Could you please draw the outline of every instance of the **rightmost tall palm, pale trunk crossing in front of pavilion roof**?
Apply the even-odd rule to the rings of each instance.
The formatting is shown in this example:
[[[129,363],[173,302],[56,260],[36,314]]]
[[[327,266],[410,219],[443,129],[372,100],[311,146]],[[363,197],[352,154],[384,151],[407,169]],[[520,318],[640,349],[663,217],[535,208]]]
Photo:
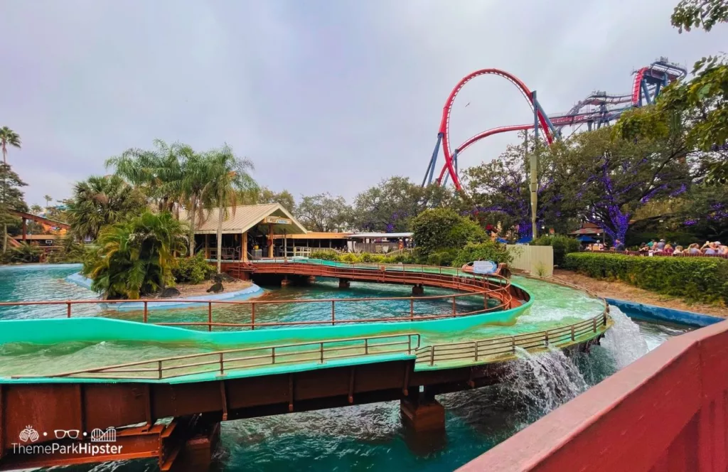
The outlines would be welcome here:
[[[241,192],[250,192],[258,184],[248,173],[253,170],[253,162],[235,156],[232,148],[225,144],[221,149],[208,152],[208,177],[210,187],[207,192],[207,204],[218,207],[218,273],[221,271],[223,219],[226,218],[227,206],[232,206],[234,213],[237,198]]]

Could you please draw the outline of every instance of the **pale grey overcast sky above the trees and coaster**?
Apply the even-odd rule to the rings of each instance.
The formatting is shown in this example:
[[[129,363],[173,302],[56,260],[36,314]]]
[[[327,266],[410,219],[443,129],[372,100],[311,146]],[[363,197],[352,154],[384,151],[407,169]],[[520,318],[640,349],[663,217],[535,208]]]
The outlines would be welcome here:
[[[0,0],[0,126],[23,139],[9,163],[29,204],[154,138],[226,142],[262,185],[352,199],[388,176],[422,181],[443,102],[478,68],[510,71],[555,113],[592,90],[630,93],[659,56],[692,66],[725,49],[723,25],[678,34],[676,2]],[[459,95],[451,133],[456,145],[530,120],[518,90],[486,76]]]

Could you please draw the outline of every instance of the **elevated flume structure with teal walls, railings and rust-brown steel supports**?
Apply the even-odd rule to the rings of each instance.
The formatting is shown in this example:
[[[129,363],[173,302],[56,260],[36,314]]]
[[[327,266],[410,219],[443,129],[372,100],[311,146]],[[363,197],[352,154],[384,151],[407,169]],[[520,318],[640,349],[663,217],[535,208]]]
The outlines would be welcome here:
[[[227,269],[234,270],[232,265]],[[443,296],[395,297],[410,307],[402,316],[342,320],[336,318],[336,303],[347,299],[326,300],[323,306],[331,304],[330,318],[306,329],[256,323],[254,307],[286,303],[282,301],[184,300],[208,304],[209,318],[185,323],[191,329],[180,329],[178,326],[183,323],[177,322],[149,323],[146,304],[141,323],[74,315],[74,309],[81,304],[132,301],[26,302],[25,305],[60,304],[66,307],[67,315],[0,321],[0,342],[163,339],[230,347],[91,369],[44,375],[18,373],[0,378],[0,470],[143,457],[157,458],[162,471],[204,470],[221,421],[377,401],[399,400],[403,421],[411,430],[444,428],[443,406],[435,401],[435,395],[499,382],[507,363],[517,358],[517,348],[531,353],[552,346],[587,349],[598,342],[612,323],[605,305],[604,312],[595,318],[547,331],[462,342],[428,342],[435,339],[432,334],[436,332],[462,332],[465,326],[513,319],[530,306],[530,296],[504,278],[466,275],[438,267],[270,261],[241,266],[239,270],[253,272],[253,277],[290,279],[316,275],[345,281],[450,288],[461,292],[444,296],[446,301],[460,296],[483,296],[486,302],[482,309],[470,312],[457,310],[453,302],[454,312],[443,315],[416,310],[419,300]],[[489,306],[488,299],[496,299],[497,303]],[[321,301],[291,303],[303,302]],[[373,300],[348,302],[371,304]],[[218,323],[212,308],[216,304],[250,310],[250,322],[234,326]],[[114,313],[118,312],[103,315]],[[269,329],[272,327],[277,329]],[[297,341],[292,342],[293,339]],[[20,438],[23,434],[28,438],[31,428],[37,434],[32,445],[38,448],[18,454],[18,447],[28,446]],[[108,428],[115,428],[113,445],[117,449],[89,449],[98,442],[82,434]],[[57,430],[76,431],[77,438],[58,440]],[[75,445],[77,450],[62,454],[41,449],[53,444]]]

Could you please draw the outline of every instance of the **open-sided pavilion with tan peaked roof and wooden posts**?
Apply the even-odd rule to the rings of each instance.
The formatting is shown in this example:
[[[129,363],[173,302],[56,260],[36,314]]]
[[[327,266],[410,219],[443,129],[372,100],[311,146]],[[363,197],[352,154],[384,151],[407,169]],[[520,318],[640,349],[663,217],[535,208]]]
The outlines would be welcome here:
[[[248,261],[250,257],[274,257],[275,237],[303,235],[306,228],[280,203],[227,207],[220,221],[218,208],[202,211],[195,218],[195,252],[205,251],[207,259],[217,259],[218,225],[222,224],[222,257],[224,260]],[[180,219],[189,222],[185,211]]]

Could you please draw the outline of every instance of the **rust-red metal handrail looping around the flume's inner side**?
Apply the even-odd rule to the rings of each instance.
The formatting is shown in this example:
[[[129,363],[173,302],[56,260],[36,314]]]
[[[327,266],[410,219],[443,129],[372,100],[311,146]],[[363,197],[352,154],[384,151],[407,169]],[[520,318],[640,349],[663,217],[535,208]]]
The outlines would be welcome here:
[[[299,263],[296,262],[286,262],[286,263],[277,263],[277,262],[271,262],[271,263],[264,263],[261,264],[262,267],[268,267],[273,268],[274,270],[277,269],[277,267],[295,267],[298,266]],[[373,264],[373,267],[379,267],[380,264]],[[357,269],[349,269],[348,267],[333,267],[333,266],[327,266],[323,264],[306,264],[301,263],[301,267],[305,267],[306,270],[304,270],[304,274],[308,272],[315,272],[316,274],[320,274],[322,272],[328,273],[328,270],[336,270],[336,272],[339,277],[346,278],[349,277],[363,277],[363,275],[360,272],[357,272]],[[298,267],[300,270],[301,267]],[[0,302],[0,307],[9,307],[9,306],[28,306],[28,305],[60,305],[66,307],[66,318],[71,318],[73,315],[72,307],[74,305],[83,305],[83,304],[141,304],[141,307],[139,307],[140,311],[143,311],[143,323],[149,323],[149,304],[164,304],[164,303],[173,303],[173,304],[197,304],[197,305],[207,305],[207,320],[206,321],[199,321],[199,322],[169,322],[169,323],[154,323],[159,324],[162,326],[207,326],[207,331],[213,331],[213,327],[219,326],[219,327],[237,327],[237,328],[250,328],[250,329],[256,329],[256,327],[270,327],[270,326],[305,326],[305,325],[336,325],[341,323],[376,323],[376,322],[389,322],[389,321],[403,321],[403,320],[411,320],[411,321],[418,321],[418,320],[435,320],[440,318],[457,318],[461,316],[468,316],[468,315],[478,315],[483,314],[486,312],[491,312],[494,310],[500,310],[500,309],[508,309],[511,307],[511,304],[513,303],[513,295],[510,293],[510,282],[502,278],[500,276],[492,276],[492,277],[479,277],[479,276],[464,276],[463,272],[458,272],[459,270],[456,270],[456,275],[452,274],[438,274],[433,272],[424,272],[424,268],[430,267],[430,266],[404,266],[404,267],[417,267],[422,272],[418,271],[411,271],[411,270],[403,270],[400,269],[400,265],[395,266],[397,267],[397,270],[372,270],[364,269],[361,270],[362,272],[365,272],[365,275],[371,276],[373,274],[376,274],[381,281],[384,282],[402,282],[403,279],[406,279],[408,283],[423,283],[428,284],[430,286],[438,286],[438,287],[446,287],[446,288],[453,288],[453,289],[459,289],[464,290],[463,293],[459,294],[452,294],[452,295],[432,295],[432,296],[389,296],[389,297],[381,297],[381,298],[349,298],[349,299],[309,299],[309,300],[264,300],[264,301],[256,301],[256,300],[202,300],[202,299],[152,299],[152,300],[58,300],[58,301],[38,301],[38,302]],[[439,270],[442,270],[442,267],[438,267]],[[310,271],[309,271],[310,270]],[[342,273],[343,272],[343,273]],[[384,274],[384,278],[379,278],[379,275]],[[404,274],[404,275],[403,275]],[[411,275],[415,274],[418,277],[413,278]],[[299,274],[300,275],[300,274]],[[314,275],[314,274],[311,274]],[[483,296],[483,309],[482,310],[474,310],[470,312],[459,312],[456,300],[461,297],[472,297],[472,296]],[[494,307],[488,307],[487,302],[488,299],[496,299],[499,300],[499,303],[496,304]],[[450,299],[452,300],[452,307],[453,310],[451,313],[447,314],[422,314],[422,313],[416,313],[415,310],[415,302],[421,303],[421,302],[430,302],[433,300],[445,300]],[[389,318],[367,318],[367,319],[337,319],[336,318],[336,305],[342,303],[352,303],[352,302],[365,302],[367,304],[376,303],[376,302],[409,302],[409,310],[408,312],[404,312],[400,316],[395,317],[389,317]],[[288,321],[288,322],[256,322],[256,308],[261,306],[267,306],[267,305],[280,305],[280,304],[312,304],[312,303],[323,303],[323,304],[331,304],[331,316],[327,316],[324,320],[309,320],[309,321]],[[214,321],[213,316],[213,304],[215,305],[240,305],[240,306],[247,306],[250,307],[250,322],[249,323],[219,323]],[[328,310],[327,310],[328,311]],[[105,314],[106,315],[106,314]]]

